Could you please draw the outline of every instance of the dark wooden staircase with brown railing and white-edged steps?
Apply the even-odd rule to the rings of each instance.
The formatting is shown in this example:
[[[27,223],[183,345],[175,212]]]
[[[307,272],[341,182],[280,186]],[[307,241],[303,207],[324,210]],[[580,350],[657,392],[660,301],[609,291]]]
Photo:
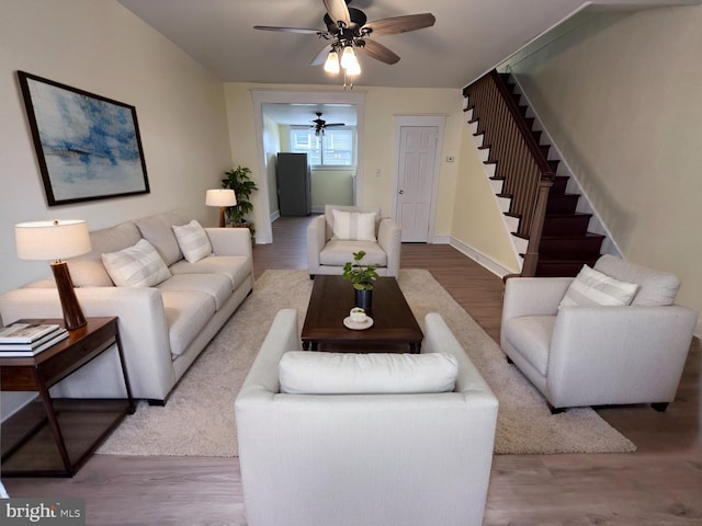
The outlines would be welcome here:
[[[525,259],[521,275],[575,276],[595,264],[604,236],[588,231],[592,215],[577,211],[581,196],[567,192],[569,176],[557,174],[559,161],[550,159],[547,138],[533,129],[514,87],[494,70],[465,88],[467,122],[497,198],[509,203],[506,220],[517,225],[514,244]]]

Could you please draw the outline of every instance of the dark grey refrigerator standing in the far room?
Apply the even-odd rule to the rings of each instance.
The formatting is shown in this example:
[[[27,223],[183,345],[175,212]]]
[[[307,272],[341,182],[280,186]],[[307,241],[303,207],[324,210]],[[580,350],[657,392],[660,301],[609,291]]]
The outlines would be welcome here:
[[[312,214],[312,190],[307,153],[279,153],[275,170],[281,216]]]

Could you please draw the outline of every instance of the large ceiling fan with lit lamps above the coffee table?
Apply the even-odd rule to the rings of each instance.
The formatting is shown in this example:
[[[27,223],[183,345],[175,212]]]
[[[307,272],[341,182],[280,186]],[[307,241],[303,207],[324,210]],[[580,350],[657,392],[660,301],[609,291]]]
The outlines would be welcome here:
[[[406,14],[367,22],[363,11],[349,8],[351,0],[322,0],[327,13],[324,22],[327,28],[309,30],[303,27],[278,27],[271,25],[254,25],[254,30],[282,31],[287,33],[302,33],[317,35],[329,41],[313,59],[312,66],[325,64],[325,70],[338,73],[343,69],[344,75],[358,75],[361,72],[354,49],[361,50],[366,56],[385,64],[396,64],[399,56],[383,44],[371,39],[373,36],[396,35],[409,31],[421,30],[434,25],[435,19],[431,13]]]

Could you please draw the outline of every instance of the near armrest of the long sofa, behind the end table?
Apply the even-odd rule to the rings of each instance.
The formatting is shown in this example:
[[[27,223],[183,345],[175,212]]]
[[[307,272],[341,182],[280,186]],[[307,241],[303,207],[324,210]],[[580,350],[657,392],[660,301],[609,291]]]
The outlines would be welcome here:
[[[162,400],[176,384],[161,294],[156,288],[84,287],[76,296],[86,317],[118,317],[120,336],[136,398]],[[9,323],[21,318],[63,318],[56,288],[19,288],[0,296],[0,313]],[[114,363],[116,365],[116,362]],[[93,364],[88,364],[88,369]],[[120,370],[114,375],[118,378]],[[90,391],[102,378],[90,376]],[[71,378],[68,378],[70,380]],[[115,396],[115,393],[101,393]]]

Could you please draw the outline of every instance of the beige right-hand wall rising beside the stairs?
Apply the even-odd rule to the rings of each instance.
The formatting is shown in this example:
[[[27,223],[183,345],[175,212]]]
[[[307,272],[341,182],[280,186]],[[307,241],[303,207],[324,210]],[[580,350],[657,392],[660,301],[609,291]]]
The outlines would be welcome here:
[[[512,65],[624,256],[702,310],[702,7],[600,14]]]

